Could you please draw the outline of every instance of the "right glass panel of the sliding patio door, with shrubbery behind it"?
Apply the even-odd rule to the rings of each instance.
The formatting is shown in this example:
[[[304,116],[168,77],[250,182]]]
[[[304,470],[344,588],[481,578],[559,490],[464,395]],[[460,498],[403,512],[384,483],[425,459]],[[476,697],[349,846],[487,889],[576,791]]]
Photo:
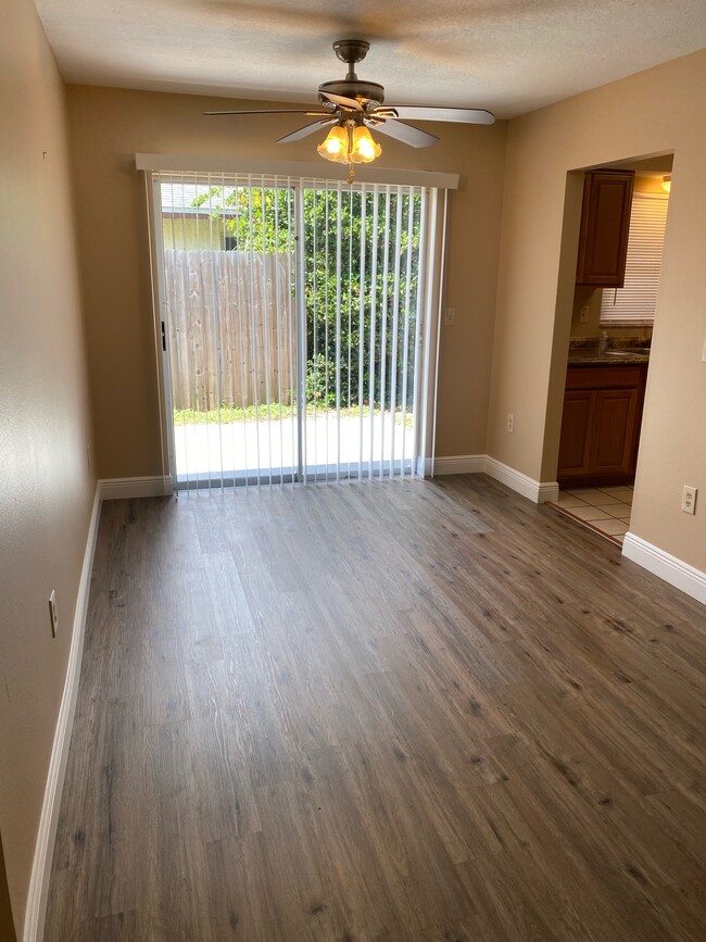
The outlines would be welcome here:
[[[424,196],[341,184],[302,203],[303,474],[411,473]]]

